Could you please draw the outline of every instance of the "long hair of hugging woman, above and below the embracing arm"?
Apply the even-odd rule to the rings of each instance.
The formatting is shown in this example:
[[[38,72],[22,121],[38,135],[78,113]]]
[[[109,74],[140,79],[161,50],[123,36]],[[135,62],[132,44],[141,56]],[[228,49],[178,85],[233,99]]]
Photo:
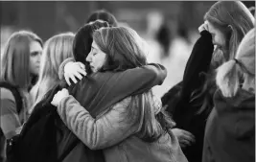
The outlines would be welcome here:
[[[93,40],[106,54],[102,71],[123,71],[147,64],[147,44],[128,27],[102,28],[95,31]],[[128,106],[129,122],[139,126],[136,135],[147,142],[155,141],[173,127],[170,116],[164,110],[155,115],[155,109],[151,90],[132,96]]]

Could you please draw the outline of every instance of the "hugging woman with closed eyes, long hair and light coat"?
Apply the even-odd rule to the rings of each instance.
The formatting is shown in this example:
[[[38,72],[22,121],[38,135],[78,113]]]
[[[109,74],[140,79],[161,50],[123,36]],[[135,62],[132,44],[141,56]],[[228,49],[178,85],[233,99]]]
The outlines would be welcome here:
[[[130,28],[102,28],[93,34],[91,52],[86,61],[90,62],[95,76],[104,75],[107,71],[112,75],[128,74],[130,69],[134,80],[141,82],[142,79],[135,77],[135,69],[137,71],[140,69],[138,67],[147,65],[145,54],[148,50],[143,48],[141,40]],[[134,71],[131,71],[133,68]],[[142,69],[146,70],[146,67]],[[140,73],[140,76],[142,75],[143,73]],[[150,76],[149,73],[143,80],[148,80]],[[112,82],[114,86],[105,84],[105,87],[110,88],[107,90],[108,95],[104,92],[101,95],[112,96],[110,94],[113,93],[119,97],[123,95],[120,89],[127,87],[126,91],[130,91],[141,84],[134,80],[121,79],[125,80],[125,75],[116,78],[115,81],[120,83]],[[90,77],[88,80],[91,80]],[[128,83],[133,86],[127,86]],[[176,137],[169,131],[173,126],[172,121],[161,110],[160,101],[153,97],[151,88],[146,88],[148,85],[145,84],[140,94],[133,94],[135,96],[132,97],[128,95],[98,113],[96,117],[91,116],[87,108],[65,89],[56,94],[52,103],[58,106],[58,114],[66,126],[72,129],[86,146],[92,150],[104,150],[105,161],[187,161]],[[116,88],[120,94],[115,92]],[[87,97],[82,95],[83,98],[85,96]],[[93,100],[102,103],[103,98],[99,99],[101,101],[97,98]]]

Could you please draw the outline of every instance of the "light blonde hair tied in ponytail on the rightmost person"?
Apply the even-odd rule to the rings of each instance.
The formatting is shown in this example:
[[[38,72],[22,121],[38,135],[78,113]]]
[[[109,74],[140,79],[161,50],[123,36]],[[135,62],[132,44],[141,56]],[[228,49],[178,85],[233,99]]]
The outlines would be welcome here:
[[[255,83],[255,28],[244,36],[235,59],[225,62],[218,69],[216,82],[222,95],[235,96],[241,77],[249,77]]]

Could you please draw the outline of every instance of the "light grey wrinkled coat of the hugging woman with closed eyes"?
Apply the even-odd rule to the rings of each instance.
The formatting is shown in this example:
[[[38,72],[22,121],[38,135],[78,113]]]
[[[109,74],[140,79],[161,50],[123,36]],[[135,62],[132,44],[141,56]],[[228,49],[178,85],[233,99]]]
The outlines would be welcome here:
[[[128,97],[94,119],[74,97],[68,96],[58,104],[58,114],[88,148],[104,149],[106,162],[186,162],[174,134],[165,133],[153,143],[134,135],[139,126],[128,123],[130,101]]]

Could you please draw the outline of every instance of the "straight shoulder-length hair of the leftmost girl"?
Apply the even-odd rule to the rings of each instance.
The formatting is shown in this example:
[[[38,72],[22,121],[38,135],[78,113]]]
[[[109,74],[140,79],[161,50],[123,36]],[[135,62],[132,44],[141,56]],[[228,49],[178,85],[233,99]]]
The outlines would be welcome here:
[[[27,89],[30,80],[30,44],[37,41],[42,46],[39,36],[29,31],[13,33],[7,41],[1,59],[0,80],[13,86]]]

